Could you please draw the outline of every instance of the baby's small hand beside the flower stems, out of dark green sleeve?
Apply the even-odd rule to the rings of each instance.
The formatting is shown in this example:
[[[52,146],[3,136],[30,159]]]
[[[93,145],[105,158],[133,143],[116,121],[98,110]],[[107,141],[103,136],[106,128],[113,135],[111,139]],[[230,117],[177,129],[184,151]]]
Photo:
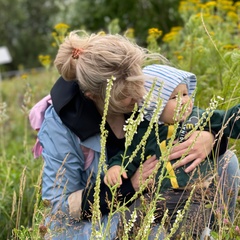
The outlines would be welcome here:
[[[104,183],[106,185],[114,186],[114,185],[122,185],[122,178],[121,178],[121,170],[122,167],[115,165],[108,169],[106,175],[104,177]],[[128,178],[127,173],[122,173],[123,178]]]

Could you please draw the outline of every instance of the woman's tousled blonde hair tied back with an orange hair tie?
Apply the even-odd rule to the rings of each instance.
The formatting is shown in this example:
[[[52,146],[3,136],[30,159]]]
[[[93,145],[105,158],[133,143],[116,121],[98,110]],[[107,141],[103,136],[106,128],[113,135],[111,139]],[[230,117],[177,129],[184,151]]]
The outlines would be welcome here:
[[[110,98],[113,112],[121,112],[119,101],[126,97],[141,99],[145,94],[142,66],[149,57],[147,50],[121,35],[78,33],[69,34],[54,61],[63,78],[77,80],[83,92],[94,94],[103,103],[107,79],[115,77]],[[76,49],[77,57],[73,54]]]

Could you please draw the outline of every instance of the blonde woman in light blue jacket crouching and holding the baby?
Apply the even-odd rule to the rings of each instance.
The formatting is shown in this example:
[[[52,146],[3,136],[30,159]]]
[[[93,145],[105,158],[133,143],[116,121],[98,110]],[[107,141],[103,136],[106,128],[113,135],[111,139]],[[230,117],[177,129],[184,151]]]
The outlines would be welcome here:
[[[46,224],[52,239],[90,239],[92,225],[88,214],[91,214],[101,154],[99,126],[107,79],[115,77],[106,119],[106,163],[124,148],[123,125],[134,104],[145,94],[141,68],[147,58],[152,56],[146,50],[119,35],[79,37],[72,32],[60,46],[55,66],[62,77],[51,90],[52,104],[45,112],[38,133],[44,158],[42,198],[51,206]],[[36,109],[32,115],[35,112]],[[170,158],[179,158],[193,140],[194,136],[177,146]],[[203,132],[182,164],[195,160],[189,167],[194,169],[210,153],[213,141],[211,133]],[[203,145],[205,151],[202,151]],[[139,170],[131,179],[123,179],[118,200],[130,200],[156,164],[154,156],[145,161],[141,181]],[[111,192],[101,181],[103,229],[100,232],[104,232],[108,220],[108,211],[104,210],[106,197],[111,200]],[[118,223],[119,215],[115,214],[105,238],[116,237]]]

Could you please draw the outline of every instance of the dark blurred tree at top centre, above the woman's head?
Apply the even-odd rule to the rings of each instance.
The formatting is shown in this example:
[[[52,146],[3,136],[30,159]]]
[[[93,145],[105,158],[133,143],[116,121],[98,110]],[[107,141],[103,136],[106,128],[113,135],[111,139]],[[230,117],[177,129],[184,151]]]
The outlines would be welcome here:
[[[119,19],[122,31],[135,29],[138,43],[145,45],[149,28],[166,33],[172,26],[181,25],[178,4],[177,0],[75,0],[74,7],[69,9],[71,26],[107,31],[107,25]]]

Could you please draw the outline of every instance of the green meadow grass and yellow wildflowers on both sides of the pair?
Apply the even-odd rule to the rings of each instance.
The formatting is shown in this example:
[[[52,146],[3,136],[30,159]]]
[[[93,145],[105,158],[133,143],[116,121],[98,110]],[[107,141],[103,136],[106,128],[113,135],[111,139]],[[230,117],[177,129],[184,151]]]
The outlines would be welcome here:
[[[220,109],[239,103],[240,3],[181,1],[179,12],[184,27],[176,26],[163,36],[161,29],[150,28],[148,49],[162,53],[175,66],[197,75],[195,105],[207,108],[216,96],[223,98],[218,100]],[[66,24],[55,26],[56,47],[69,28]],[[137,41],[134,29],[121,31],[116,25],[109,27],[110,32],[111,29]],[[49,56],[40,55],[39,60],[46,69],[44,72],[33,70],[0,83],[0,239],[41,239],[46,231],[43,220],[47,208],[41,201],[43,160],[34,159],[31,152],[37,133],[30,128],[28,113],[49,93],[58,73]],[[240,159],[240,143],[231,140],[229,148]],[[151,216],[147,217],[151,220]],[[150,226],[150,220],[146,219],[144,226]],[[146,239],[147,232],[138,234]],[[213,237],[240,239],[239,203],[234,223],[222,218]],[[123,239],[128,239],[128,235]]]

